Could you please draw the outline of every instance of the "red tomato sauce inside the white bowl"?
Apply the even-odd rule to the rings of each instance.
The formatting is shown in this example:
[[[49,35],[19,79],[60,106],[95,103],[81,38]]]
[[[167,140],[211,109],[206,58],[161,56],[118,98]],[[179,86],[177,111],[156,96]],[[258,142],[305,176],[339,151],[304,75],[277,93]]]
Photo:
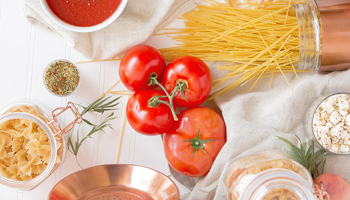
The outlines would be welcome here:
[[[121,0],[46,0],[61,20],[76,26],[92,26],[109,18]]]

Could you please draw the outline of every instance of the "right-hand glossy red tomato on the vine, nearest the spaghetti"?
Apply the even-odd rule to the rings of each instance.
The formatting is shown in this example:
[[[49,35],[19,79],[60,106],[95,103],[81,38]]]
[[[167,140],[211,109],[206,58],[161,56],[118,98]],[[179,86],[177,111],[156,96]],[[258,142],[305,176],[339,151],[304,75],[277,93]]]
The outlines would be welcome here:
[[[209,67],[201,59],[194,56],[182,56],[172,60],[165,67],[162,82],[168,92],[171,92],[177,82],[186,82],[187,88],[182,97],[177,90],[173,102],[179,107],[194,107],[206,99],[210,93],[212,79]]]

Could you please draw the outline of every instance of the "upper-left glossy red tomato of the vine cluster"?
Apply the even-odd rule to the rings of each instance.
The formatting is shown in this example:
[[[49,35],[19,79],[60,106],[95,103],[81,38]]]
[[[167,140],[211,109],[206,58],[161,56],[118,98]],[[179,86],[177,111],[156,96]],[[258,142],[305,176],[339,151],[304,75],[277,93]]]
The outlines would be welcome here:
[[[153,86],[148,85],[149,75],[156,73],[160,81],[165,66],[165,60],[156,48],[141,44],[132,47],[121,58],[119,77],[132,92],[152,89]]]

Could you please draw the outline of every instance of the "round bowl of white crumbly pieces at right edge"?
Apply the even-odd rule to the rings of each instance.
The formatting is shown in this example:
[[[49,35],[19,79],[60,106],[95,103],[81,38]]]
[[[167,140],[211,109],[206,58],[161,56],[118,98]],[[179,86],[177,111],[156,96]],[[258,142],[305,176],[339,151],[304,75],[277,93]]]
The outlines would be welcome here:
[[[346,92],[322,95],[311,103],[305,127],[326,151],[350,154],[349,108],[350,93]]]

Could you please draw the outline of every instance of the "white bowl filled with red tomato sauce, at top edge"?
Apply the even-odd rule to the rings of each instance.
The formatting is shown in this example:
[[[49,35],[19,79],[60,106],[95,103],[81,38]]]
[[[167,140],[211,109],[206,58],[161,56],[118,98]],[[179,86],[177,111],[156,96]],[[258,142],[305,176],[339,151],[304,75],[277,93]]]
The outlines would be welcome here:
[[[76,32],[92,32],[113,22],[127,0],[39,0],[58,25]]]

